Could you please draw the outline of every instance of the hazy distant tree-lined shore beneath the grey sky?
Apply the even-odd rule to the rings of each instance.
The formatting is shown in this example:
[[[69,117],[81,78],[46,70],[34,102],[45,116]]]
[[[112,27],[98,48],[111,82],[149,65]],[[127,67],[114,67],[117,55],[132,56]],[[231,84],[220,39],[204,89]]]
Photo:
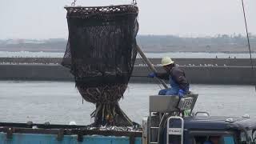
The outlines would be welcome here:
[[[138,46],[146,53],[201,52],[246,54],[249,52],[246,37],[241,34],[218,34],[217,37],[182,38],[174,35],[138,35]],[[0,51],[64,52],[64,38],[0,39]],[[251,51],[256,53],[256,35],[250,35]]]

